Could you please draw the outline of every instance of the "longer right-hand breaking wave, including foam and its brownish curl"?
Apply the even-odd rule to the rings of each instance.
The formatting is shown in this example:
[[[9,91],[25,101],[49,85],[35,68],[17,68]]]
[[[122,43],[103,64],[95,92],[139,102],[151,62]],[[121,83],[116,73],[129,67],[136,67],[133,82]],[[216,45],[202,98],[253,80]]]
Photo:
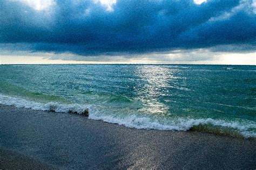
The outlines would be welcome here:
[[[238,122],[226,122],[223,120],[214,120],[212,118],[207,119],[193,119],[193,118],[177,118],[173,121],[167,121],[166,123],[161,123],[157,120],[152,120],[149,117],[138,117],[137,115],[127,116],[125,118],[120,118],[116,116],[109,115],[94,115],[90,114],[89,118],[101,120],[108,123],[116,123],[119,125],[124,125],[129,128],[136,129],[156,129],[156,130],[172,130],[172,131],[189,131],[198,130],[206,131],[217,134],[228,134],[230,136],[243,136],[245,138],[255,138],[256,133],[249,131],[250,129],[255,129],[256,125],[249,123],[242,125]],[[204,128],[201,128],[204,126]],[[214,128],[211,128],[214,126]],[[217,129],[216,129],[217,128]]]

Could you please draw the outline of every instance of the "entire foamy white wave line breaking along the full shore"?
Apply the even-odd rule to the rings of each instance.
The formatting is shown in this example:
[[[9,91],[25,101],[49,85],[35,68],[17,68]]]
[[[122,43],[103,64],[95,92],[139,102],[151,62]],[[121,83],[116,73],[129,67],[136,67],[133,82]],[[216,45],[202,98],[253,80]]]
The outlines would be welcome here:
[[[32,110],[55,111],[65,113],[76,113],[83,115],[89,111],[89,118],[101,120],[108,123],[116,123],[129,128],[136,129],[156,129],[172,131],[206,131],[218,134],[231,134],[231,136],[243,136],[246,138],[256,137],[256,124],[254,122],[235,122],[224,121],[212,118],[173,118],[173,119],[156,119],[142,115],[126,115],[120,117],[117,114],[110,114],[99,111],[96,105],[91,104],[62,104],[57,102],[38,103],[28,101],[20,97],[11,97],[0,94],[0,104],[12,105],[17,108],[29,108]],[[235,135],[233,135],[235,134]]]

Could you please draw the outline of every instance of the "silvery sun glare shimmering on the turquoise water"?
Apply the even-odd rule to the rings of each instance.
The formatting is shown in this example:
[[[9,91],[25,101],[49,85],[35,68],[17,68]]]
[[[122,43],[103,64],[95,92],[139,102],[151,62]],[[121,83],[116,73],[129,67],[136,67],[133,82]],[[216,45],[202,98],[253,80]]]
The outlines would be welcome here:
[[[139,96],[138,100],[146,106],[140,109],[140,112],[159,115],[168,112],[169,107],[159,100],[159,96],[169,94],[168,89],[172,88],[170,82],[176,79],[173,72],[176,70],[166,66],[138,66],[137,76],[144,83],[142,87],[136,90]]]

